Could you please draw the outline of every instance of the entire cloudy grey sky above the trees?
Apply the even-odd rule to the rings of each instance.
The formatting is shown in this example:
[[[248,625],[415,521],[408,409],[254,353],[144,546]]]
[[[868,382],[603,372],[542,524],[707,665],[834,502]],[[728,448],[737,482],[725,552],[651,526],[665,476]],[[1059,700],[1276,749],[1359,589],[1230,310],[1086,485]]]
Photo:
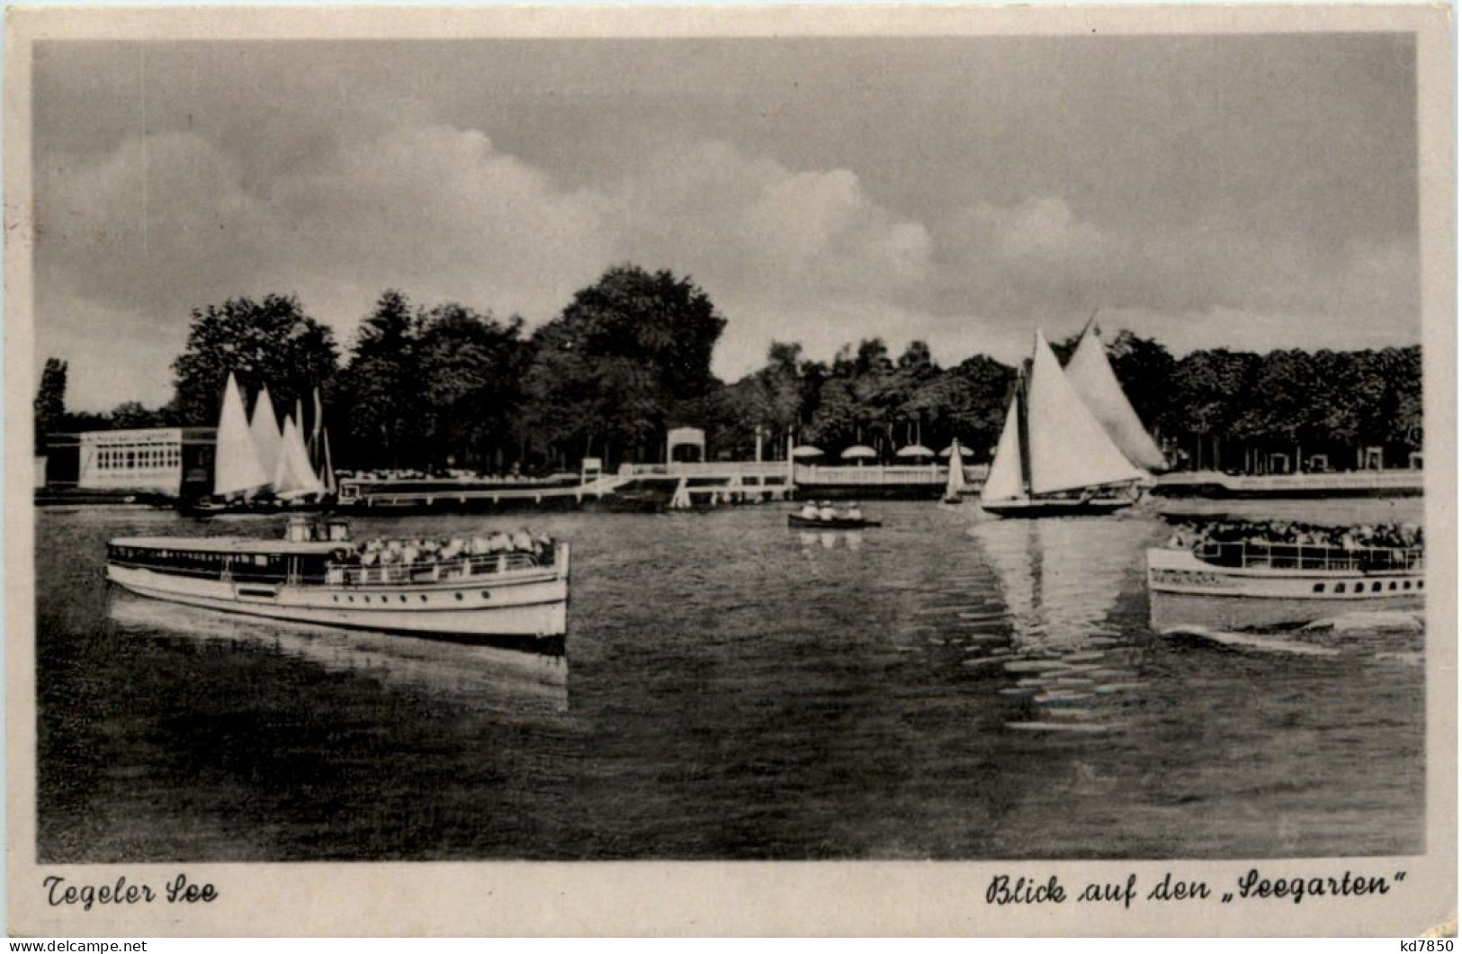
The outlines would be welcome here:
[[[37,364],[171,397],[192,309],[529,326],[607,268],[773,339],[1015,361],[1420,341],[1409,35],[42,42]]]

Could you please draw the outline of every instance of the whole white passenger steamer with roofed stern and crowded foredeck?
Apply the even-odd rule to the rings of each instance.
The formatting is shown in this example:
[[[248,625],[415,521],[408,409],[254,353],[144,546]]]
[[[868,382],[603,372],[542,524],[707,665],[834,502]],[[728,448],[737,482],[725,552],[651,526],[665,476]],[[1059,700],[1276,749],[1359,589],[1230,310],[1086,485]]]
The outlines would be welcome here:
[[[121,537],[107,579],[145,597],[250,616],[458,639],[561,639],[569,544],[501,536],[358,544],[344,521],[292,517],[282,540]]]

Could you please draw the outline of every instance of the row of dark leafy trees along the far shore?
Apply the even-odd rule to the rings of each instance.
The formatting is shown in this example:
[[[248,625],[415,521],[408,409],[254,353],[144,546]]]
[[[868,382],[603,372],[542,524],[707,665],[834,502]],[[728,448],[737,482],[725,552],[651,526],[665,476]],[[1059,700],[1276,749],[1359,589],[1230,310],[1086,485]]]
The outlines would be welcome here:
[[[595,455],[654,461],[667,427],[705,427],[713,452],[747,458],[760,433],[770,454],[788,435],[835,452],[868,443],[892,454],[959,437],[988,455],[1015,369],[985,356],[940,367],[928,345],[893,356],[880,338],[814,361],[773,342],[766,364],[725,383],[711,358],[725,328],[689,278],[617,266],[528,334],[523,320],[444,303],[380,296],[342,356],[332,331],[292,297],[234,298],[193,312],[173,364],[175,394],[155,411],[64,411],[66,366],[51,360],[37,397],[38,436],[98,426],[212,424],[230,372],[294,407],[319,386],[336,459],[354,467],[573,467]],[[1064,360],[1076,338],[1057,342]],[[1338,454],[1380,445],[1396,458],[1421,445],[1421,353],[1193,351],[1175,358],[1127,331],[1108,342],[1139,416],[1190,464],[1230,465],[1250,451]],[[342,364],[344,357],[344,364]]]

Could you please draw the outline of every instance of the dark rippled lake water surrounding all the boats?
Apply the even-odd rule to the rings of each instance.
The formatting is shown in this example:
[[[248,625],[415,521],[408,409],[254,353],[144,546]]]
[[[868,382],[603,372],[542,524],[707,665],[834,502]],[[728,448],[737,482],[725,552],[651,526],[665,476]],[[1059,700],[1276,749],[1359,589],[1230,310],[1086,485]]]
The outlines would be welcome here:
[[[563,657],[111,593],[110,537],[279,524],[41,512],[39,860],[1423,849],[1415,628],[1164,638],[1151,509],[867,509],[885,525],[861,534],[788,530],[784,506],[352,521],[570,540]],[[1311,511],[1288,515],[1357,512]]]

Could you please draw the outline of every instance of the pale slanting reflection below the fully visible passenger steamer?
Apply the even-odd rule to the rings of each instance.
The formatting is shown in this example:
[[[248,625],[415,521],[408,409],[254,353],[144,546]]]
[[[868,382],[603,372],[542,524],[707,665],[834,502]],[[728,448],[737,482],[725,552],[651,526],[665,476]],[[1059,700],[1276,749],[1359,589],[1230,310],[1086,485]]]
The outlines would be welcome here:
[[[332,672],[428,689],[477,711],[569,711],[569,663],[561,654],[234,616],[123,591],[111,594],[108,612],[126,635],[262,645]]]

